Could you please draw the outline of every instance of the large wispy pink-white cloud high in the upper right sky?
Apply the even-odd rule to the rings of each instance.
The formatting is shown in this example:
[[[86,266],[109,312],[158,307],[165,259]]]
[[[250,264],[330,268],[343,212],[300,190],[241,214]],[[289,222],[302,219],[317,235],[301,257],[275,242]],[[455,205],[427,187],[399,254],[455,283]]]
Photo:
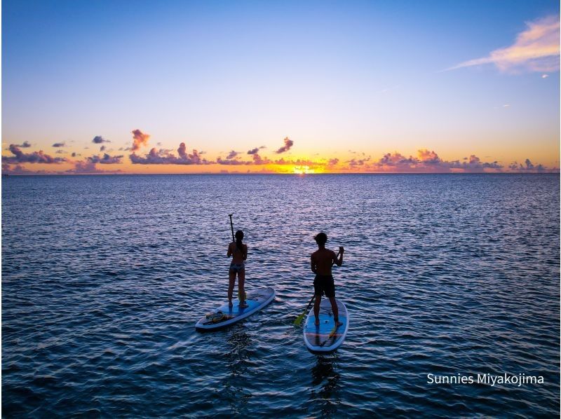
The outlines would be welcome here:
[[[513,45],[494,50],[487,57],[461,62],[447,70],[482,64],[494,64],[503,72],[559,70],[559,16],[526,22],[526,25],[527,29],[516,36]]]

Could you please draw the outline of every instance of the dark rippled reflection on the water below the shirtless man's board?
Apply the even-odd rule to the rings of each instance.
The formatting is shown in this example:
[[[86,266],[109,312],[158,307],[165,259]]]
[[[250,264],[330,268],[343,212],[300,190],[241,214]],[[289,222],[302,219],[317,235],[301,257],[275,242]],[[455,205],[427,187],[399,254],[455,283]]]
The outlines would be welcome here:
[[[311,391],[309,402],[311,411],[320,411],[322,416],[330,417],[337,413],[340,402],[339,379],[337,372],[337,353],[316,355],[316,365],[311,369]]]

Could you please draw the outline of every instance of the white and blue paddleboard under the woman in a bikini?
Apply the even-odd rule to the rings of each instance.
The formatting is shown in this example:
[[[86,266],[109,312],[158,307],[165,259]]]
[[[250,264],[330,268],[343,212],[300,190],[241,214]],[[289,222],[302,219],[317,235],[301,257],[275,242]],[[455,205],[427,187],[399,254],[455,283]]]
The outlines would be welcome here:
[[[201,317],[201,320],[195,324],[195,329],[200,331],[215,330],[239,322],[273,301],[275,290],[270,287],[259,288],[246,293],[246,295],[245,303],[248,307],[240,308],[240,301],[237,299],[232,300],[231,307],[226,302],[216,310]]]

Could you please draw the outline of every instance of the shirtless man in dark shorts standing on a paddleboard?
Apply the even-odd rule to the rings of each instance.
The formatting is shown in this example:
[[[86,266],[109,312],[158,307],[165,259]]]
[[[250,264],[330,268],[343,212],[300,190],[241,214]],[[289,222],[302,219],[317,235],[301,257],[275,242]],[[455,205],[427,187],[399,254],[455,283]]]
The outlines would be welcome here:
[[[331,275],[331,267],[333,264],[342,266],[343,253],[345,249],[339,247],[339,254],[335,254],[332,250],[325,249],[325,242],[327,242],[327,235],[319,233],[315,237],[318,243],[318,250],[311,254],[311,270],[316,274],[316,279],[313,280],[313,289],[316,294],[316,302],[313,304],[313,314],[316,316],[316,326],[320,324],[320,303],[321,296],[325,294],[331,303],[331,310],[337,326],[341,326],[339,322],[339,310],[337,310],[337,302],[335,301],[335,285],[333,283],[333,276]],[[337,258],[339,256],[339,258]]]

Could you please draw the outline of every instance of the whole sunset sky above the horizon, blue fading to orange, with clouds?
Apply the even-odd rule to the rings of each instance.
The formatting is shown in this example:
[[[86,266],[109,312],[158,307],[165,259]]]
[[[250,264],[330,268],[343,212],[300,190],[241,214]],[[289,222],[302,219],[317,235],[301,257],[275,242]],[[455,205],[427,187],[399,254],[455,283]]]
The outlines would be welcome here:
[[[558,1],[2,1],[2,172],[559,172]]]

